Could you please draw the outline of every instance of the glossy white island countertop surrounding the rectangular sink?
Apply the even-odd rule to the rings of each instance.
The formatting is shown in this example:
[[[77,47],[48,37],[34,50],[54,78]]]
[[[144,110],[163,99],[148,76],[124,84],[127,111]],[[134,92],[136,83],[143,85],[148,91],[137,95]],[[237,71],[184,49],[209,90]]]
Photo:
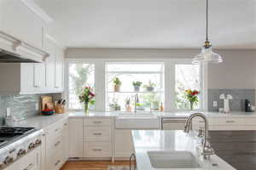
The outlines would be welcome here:
[[[210,160],[204,160],[196,152],[195,133],[183,133],[176,130],[133,130],[133,144],[135,148],[137,170],[156,170],[151,166],[148,151],[150,150],[186,150],[193,153],[198,159],[201,168],[194,170],[235,170],[227,162],[216,155],[211,156]],[[218,167],[212,167],[212,163],[217,163]],[[171,170],[171,169],[170,169]],[[172,170],[183,170],[172,168]],[[189,170],[189,169],[188,169]]]

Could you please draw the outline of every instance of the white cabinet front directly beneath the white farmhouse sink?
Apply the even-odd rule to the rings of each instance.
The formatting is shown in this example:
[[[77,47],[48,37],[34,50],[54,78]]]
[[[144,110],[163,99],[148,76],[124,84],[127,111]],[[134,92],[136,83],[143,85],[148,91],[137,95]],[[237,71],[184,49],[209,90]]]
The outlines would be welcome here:
[[[114,149],[115,158],[128,158],[134,152],[130,129],[114,130]]]

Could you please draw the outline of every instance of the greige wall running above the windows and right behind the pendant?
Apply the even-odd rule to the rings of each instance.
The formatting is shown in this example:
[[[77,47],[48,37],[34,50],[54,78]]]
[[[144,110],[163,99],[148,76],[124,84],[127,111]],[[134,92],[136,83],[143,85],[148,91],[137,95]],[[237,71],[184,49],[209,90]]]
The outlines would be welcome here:
[[[219,49],[224,62],[208,66],[208,88],[256,88],[256,49]],[[66,58],[191,58],[200,49],[67,48]]]

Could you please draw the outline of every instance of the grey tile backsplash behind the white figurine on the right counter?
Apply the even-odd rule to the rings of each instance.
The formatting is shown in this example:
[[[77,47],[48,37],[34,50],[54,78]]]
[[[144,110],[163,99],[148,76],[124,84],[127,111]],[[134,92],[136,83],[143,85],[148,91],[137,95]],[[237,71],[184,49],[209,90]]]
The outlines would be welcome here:
[[[208,111],[218,111],[224,107],[224,100],[219,99],[220,94],[230,94],[230,111],[244,111],[245,99],[255,105],[255,89],[208,89]],[[213,107],[213,101],[218,102],[218,107]]]

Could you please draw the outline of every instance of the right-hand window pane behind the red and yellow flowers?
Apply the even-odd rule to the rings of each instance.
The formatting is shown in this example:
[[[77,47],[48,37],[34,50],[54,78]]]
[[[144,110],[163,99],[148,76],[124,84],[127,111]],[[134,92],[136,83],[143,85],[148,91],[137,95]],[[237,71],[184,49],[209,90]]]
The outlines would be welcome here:
[[[185,99],[186,89],[199,90],[201,92],[200,65],[175,65],[175,106],[176,109],[189,109],[189,102]],[[200,99],[200,97],[199,97]],[[195,105],[195,109],[200,108]]]

